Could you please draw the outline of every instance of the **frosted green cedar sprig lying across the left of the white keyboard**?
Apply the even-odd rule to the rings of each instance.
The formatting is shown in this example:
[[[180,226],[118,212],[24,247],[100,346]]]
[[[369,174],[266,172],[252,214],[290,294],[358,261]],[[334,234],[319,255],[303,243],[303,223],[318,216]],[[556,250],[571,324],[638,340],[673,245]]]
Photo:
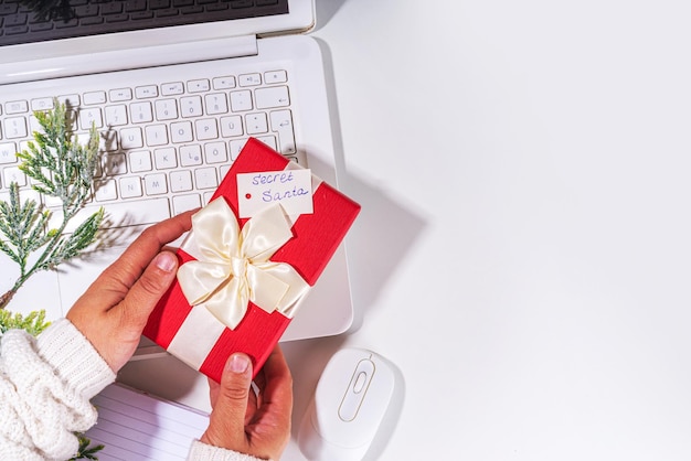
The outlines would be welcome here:
[[[95,126],[83,146],[72,130],[72,119],[64,104],[55,99],[53,109],[36,111],[34,116],[42,131],[34,131],[34,140],[28,143],[28,149],[17,153],[22,161],[19,169],[30,179],[34,191],[61,202],[62,216],[52,219],[52,213],[33,200],[22,203],[19,186],[10,184],[10,201],[0,202],[0,232],[3,234],[0,250],[19,265],[20,275],[13,287],[0,297],[0,309],[33,274],[54,269],[94,243],[104,217],[99,208],[73,233],[65,232],[92,194],[99,139]]]

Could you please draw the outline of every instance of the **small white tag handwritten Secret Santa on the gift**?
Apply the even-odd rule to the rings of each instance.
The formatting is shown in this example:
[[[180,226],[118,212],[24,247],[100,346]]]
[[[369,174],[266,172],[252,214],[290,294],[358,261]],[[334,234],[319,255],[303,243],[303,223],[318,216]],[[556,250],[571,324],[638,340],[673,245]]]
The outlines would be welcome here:
[[[312,173],[308,169],[238,173],[237,202],[240,217],[252,217],[276,202],[288,215],[310,214]]]

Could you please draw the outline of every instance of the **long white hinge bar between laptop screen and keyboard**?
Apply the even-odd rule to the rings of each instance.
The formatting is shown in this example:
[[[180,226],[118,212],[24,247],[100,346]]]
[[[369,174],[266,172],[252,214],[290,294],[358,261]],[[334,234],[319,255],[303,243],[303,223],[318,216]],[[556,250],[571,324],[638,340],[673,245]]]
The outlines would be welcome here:
[[[125,50],[89,51],[0,63],[0,85],[257,54],[257,37],[243,35]]]

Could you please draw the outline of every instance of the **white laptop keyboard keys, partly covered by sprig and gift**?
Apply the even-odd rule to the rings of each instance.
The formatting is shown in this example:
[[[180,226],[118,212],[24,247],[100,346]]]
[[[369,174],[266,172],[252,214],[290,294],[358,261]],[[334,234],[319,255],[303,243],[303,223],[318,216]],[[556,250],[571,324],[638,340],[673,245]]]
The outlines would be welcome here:
[[[9,197],[10,183],[17,182],[22,200],[34,199],[49,208],[60,206],[31,189],[15,156],[40,129],[33,111],[52,108],[57,97],[70,108],[79,142],[88,139],[92,124],[100,132],[102,159],[85,215],[104,206],[105,227],[123,227],[156,223],[202,206],[248,137],[305,163],[296,150],[289,83],[286,69],[274,68],[127,86],[89,83],[79,93],[61,88],[56,95],[22,98],[17,94],[10,100],[4,96],[0,101],[0,200]],[[81,221],[73,219],[74,225]]]

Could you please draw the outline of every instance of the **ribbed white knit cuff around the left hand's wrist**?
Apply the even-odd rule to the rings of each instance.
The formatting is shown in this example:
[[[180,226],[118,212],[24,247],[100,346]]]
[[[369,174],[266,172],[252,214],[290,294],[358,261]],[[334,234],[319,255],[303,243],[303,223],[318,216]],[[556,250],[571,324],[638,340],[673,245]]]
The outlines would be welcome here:
[[[115,373],[92,343],[67,319],[54,321],[36,339],[38,352],[72,388],[91,399]]]

